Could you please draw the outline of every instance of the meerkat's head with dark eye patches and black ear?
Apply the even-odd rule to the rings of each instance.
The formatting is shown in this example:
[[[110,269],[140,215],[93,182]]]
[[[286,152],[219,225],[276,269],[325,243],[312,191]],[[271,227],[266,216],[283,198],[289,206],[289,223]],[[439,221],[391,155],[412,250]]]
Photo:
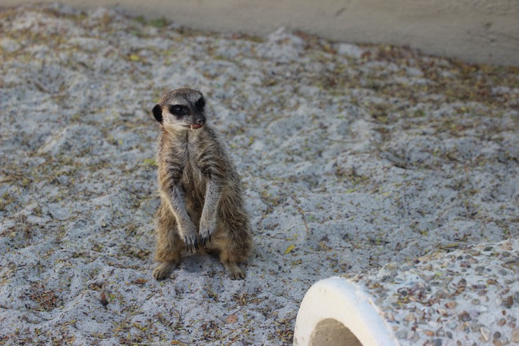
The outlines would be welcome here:
[[[169,91],[153,107],[153,116],[166,129],[200,129],[205,124],[204,96],[187,88]]]

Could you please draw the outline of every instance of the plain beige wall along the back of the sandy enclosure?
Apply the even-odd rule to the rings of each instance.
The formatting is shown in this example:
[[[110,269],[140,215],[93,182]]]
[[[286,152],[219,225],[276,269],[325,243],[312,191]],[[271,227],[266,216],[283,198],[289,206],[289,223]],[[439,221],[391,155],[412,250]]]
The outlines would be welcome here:
[[[0,6],[30,2],[41,0],[0,0]],[[284,26],[338,41],[409,45],[469,63],[519,66],[518,0],[63,2],[81,8],[120,4],[134,15],[166,17],[204,30],[264,35]]]

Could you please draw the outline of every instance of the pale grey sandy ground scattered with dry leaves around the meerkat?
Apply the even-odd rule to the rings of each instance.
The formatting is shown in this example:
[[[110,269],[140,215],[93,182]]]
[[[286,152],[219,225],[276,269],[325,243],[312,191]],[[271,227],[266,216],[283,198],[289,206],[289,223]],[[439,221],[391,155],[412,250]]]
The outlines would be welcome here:
[[[56,5],[0,32],[2,344],[289,344],[321,278],[518,236],[517,69]],[[150,109],[177,87],[242,176],[243,281],[207,255],[151,277]]]

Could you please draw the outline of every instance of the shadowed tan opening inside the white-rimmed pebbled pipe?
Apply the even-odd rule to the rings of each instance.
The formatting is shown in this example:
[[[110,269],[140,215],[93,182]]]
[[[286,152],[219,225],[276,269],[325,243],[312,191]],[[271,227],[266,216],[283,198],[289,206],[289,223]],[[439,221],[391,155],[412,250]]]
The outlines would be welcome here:
[[[310,338],[312,346],[362,346],[349,328],[336,319],[325,319],[319,323]]]

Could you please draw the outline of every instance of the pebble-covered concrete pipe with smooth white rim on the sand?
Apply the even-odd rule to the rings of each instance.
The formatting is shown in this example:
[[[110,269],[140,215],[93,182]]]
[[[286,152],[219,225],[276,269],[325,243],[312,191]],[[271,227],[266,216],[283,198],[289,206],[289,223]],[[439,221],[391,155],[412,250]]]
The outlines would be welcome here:
[[[519,345],[519,239],[312,286],[294,345]]]

